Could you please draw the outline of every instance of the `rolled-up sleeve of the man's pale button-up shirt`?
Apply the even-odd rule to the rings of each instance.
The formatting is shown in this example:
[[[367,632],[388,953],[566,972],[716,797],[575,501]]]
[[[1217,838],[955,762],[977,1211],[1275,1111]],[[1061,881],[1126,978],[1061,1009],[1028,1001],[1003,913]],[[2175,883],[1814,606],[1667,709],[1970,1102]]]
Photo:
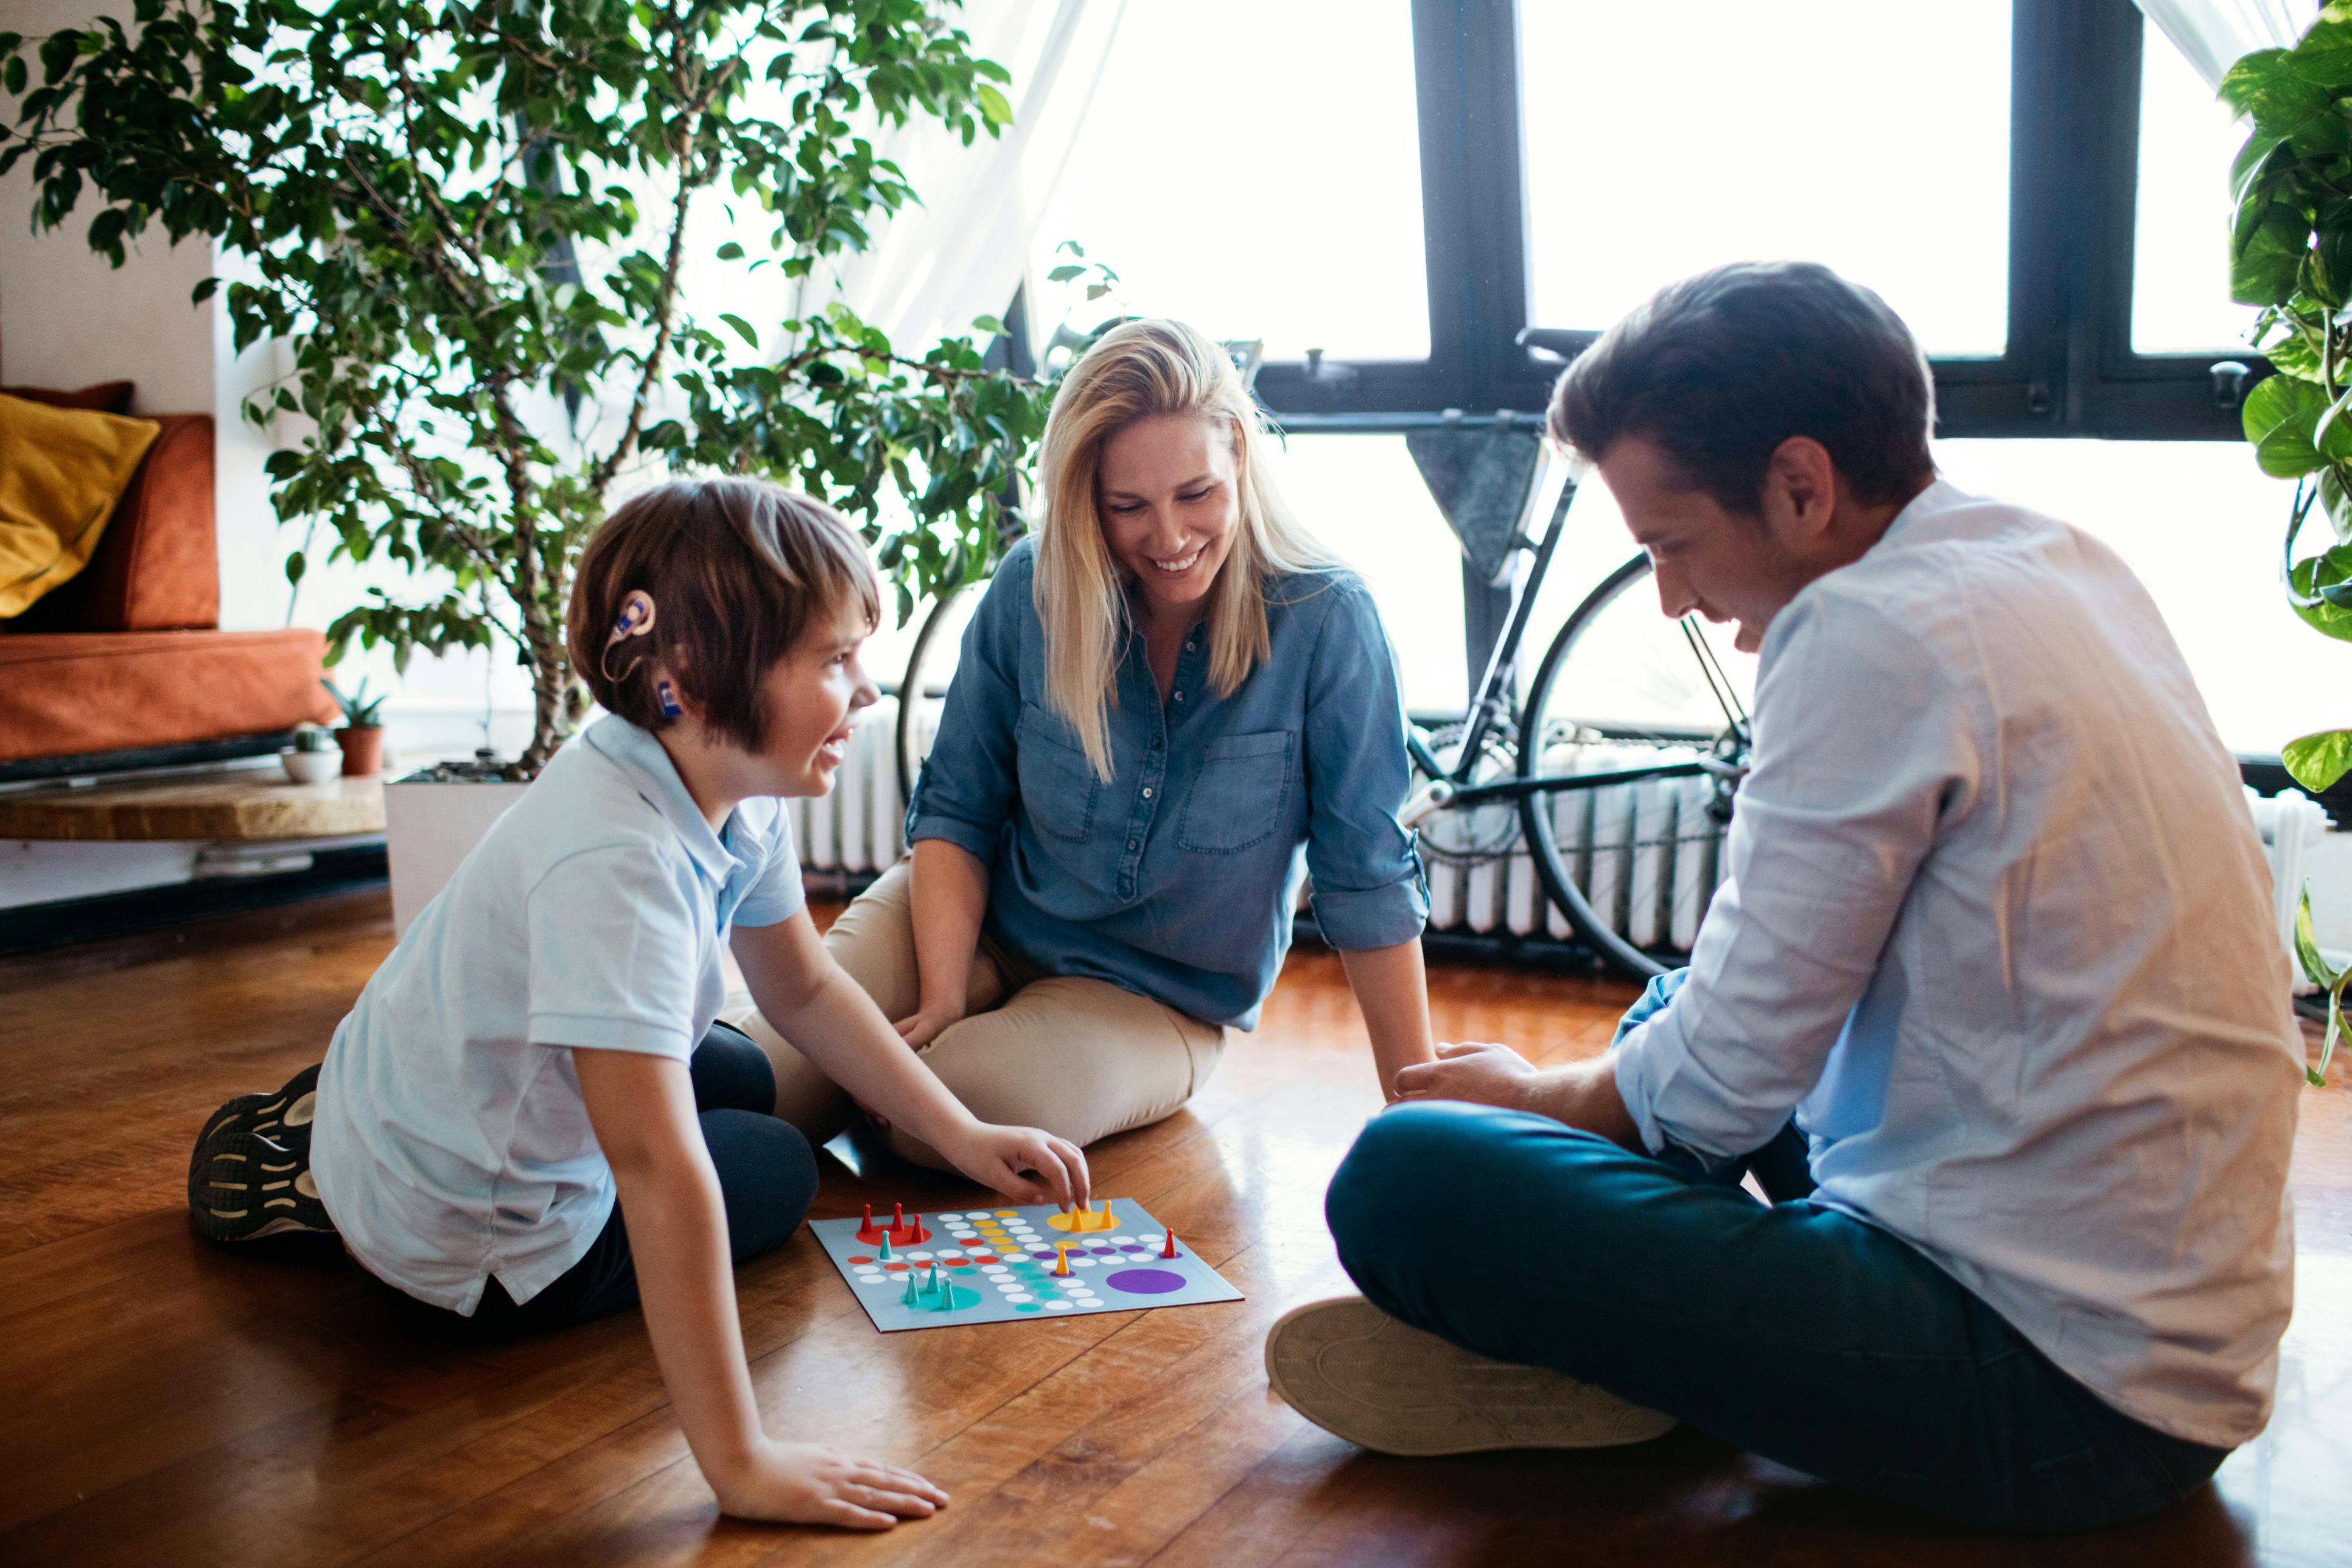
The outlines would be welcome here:
[[[1771,628],[1757,752],[1691,976],[1616,1046],[1651,1152],[1733,1159],[1820,1081],[1938,825],[1976,788],[1964,698],[1877,609],[1799,597]]]

